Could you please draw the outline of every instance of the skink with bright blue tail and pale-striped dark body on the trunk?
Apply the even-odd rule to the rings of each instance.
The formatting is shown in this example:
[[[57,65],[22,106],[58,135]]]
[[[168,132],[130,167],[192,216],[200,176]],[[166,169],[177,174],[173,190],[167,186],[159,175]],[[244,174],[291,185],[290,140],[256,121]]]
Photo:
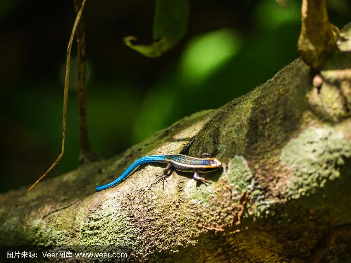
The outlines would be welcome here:
[[[184,146],[184,148],[180,151],[179,154],[170,154],[170,155],[150,155],[144,156],[140,159],[136,160],[127,170],[124,171],[122,175],[120,175],[116,180],[111,183],[105,184],[101,186],[101,184],[96,188],[97,191],[101,191],[110,187],[113,187],[120,182],[122,182],[128,175],[133,173],[135,169],[137,169],[141,164],[145,163],[167,163],[166,168],[163,171],[162,177],[168,177],[168,172],[171,169],[175,169],[177,171],[183,172],[192,172],[194,180],[201,181],[206,183],[207,180],[200,177],[198,173],[209,173],[214,170],[221,168],[222,163],[218,161],[216,158],[196,158],[192,156],[188,156],[185,153],[188,153],[190,146],[195,140],[195,136]],[[203,154],[208,155],[208,154]]]

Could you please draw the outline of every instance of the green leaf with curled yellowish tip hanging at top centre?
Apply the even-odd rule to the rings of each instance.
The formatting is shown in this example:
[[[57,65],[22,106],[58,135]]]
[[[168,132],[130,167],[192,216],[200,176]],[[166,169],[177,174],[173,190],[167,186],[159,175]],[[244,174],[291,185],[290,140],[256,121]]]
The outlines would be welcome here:
[[[151,45],[134,45],[135,36],[126,36],[124,43],[148,58],[157,58],[174,47],[185,35],[189,17],[188,0],[157,0]]]

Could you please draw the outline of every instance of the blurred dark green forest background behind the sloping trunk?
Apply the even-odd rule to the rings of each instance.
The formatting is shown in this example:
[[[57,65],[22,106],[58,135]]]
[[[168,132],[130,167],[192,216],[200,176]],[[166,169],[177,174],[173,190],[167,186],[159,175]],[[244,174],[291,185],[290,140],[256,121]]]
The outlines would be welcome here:
[[[274,0],[191,0],[184,39],[150,59],[122,38],[152,42],[154,0],[87,0],[93,148],[110,158],[183,116],[220,107],[269,80],[298,56],[301,1],[286,3],[282,8]],[[327,4],[332,23],[349,22],[348,0]],[[73,0],[0,0],[0,191],[30,185],[61,152],[66,48],[74,19]],[[47,177],[78,165],[75,48],[65,154]]]

